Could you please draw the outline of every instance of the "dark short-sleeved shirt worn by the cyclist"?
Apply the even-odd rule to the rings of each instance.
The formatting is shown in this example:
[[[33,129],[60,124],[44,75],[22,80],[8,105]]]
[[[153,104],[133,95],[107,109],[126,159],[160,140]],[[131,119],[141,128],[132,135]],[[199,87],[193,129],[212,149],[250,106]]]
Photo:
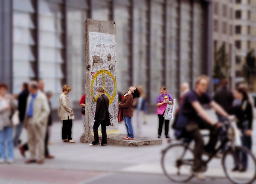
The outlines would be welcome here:
[[[192,102],[199,102],[201,105],[209,104],[212,102],[211,96],[207,93],[203,93],[201,96],[193,90],[189,91],[180,107],[177,123],[175,125],[175,136],[179,137],[183,131],[187,122],[200,118],[197,111],[193,108]]]

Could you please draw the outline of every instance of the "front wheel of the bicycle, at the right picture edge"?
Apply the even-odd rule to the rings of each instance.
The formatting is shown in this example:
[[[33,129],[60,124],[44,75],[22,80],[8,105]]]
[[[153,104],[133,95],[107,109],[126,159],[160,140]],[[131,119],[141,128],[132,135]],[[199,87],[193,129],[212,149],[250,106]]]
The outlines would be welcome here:
[[[247,168],[241,171],[242,162],[247,155]],[[246,161],[244,161],[246,163]],[[256,178],[256,159],[245,147],[236,146],[228,149],[222,158],[222,166],[227,178],[234,184],[250,184]],[[239,170],[233,170],[235,167]]]

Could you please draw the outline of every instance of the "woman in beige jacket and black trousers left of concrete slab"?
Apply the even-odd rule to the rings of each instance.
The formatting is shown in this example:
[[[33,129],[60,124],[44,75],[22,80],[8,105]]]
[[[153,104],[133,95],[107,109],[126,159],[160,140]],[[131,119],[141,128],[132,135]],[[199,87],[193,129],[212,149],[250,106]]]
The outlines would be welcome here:
[[[72,134],[72,119],[74,119],[71,102],[67,94],[71,91],[69,85],[64,85],[60,94],[59,117],[63,120],[62,140],[63,142],[75,143],[71,137]]]

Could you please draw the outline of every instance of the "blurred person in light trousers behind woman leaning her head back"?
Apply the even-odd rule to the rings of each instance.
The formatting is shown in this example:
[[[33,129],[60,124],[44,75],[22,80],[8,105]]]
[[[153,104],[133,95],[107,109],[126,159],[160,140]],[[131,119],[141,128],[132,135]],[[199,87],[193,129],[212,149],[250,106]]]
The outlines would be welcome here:
[[[134,122],[137,125],[137,136],[140,136],[142,133],[142,128],[141,128],[141,124],[142,122],[145,122],[144,116],[146,113],[146,95],[143,91],[143,87],[140,85],[138,86],[138,91],[140,92],[140,97],[134,99],[133,101],[133,106],[134,106]],[[145,123],[144,123],[145,124]]]

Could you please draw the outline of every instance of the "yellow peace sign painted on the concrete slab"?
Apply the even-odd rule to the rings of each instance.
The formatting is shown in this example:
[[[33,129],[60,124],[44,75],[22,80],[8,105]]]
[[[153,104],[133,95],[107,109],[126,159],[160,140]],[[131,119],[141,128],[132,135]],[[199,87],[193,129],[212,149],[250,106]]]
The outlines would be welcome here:
[[[113,102],[113,100],[116,96],[116,80],[115,80],[115,77],[113,76],[113,74],[111,74],[111,72],[108,71],[108,70],[102,69],[102,70],[97,71],[96,74],[93,75],[93,79],[92,79],[92,82],[91,82],[91,96],[93,98],[93,101],[96,103],[99,95],[97,95],[96,97],[94,96],[93,84],[94,84],[94,81],[97,78],[97,76],[100,75],[100,74],[102,74],[102,88],[105,91],[105,95],[108,96],[109,105],[111,105],[111,103]],[[113,92],[112,96],[110,96],[108,91],[106,91],[106,89],[105,89],[105,75],[109,75],[111,77],[111,79],[113,80],[113,82],[114,82],[114,92]]]

